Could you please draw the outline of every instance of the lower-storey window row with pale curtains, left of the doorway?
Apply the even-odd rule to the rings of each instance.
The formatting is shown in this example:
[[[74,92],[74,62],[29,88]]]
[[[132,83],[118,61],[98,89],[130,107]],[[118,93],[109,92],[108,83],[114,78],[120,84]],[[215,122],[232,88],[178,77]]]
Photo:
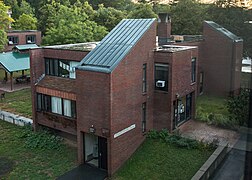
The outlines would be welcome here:
[[[52,112],[76,118],[76,102],[69,99],[37,93],[37,111]]]

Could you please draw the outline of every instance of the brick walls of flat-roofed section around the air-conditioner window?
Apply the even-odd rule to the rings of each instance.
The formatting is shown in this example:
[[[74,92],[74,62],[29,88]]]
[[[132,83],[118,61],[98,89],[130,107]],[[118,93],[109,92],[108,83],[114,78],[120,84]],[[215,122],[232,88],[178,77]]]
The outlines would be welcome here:
[[[155,63],[169,65],[168,92],[154,92],[154,128],[161,130],[173,127],[173,101],[177,100],[176,94],[184,97],[191,92],[196,94],[197,82],[191,83],[191,60],[196,57],[198,64],[198,49],[190,49],[178,52],[155,52]],[[197,67],[197,65],[196,65]],[[198,70],[196,69],[196,72]],[[197,81],[197,80],[196,80]],[[195,113],[195,96],[192,103],[193,117]]]

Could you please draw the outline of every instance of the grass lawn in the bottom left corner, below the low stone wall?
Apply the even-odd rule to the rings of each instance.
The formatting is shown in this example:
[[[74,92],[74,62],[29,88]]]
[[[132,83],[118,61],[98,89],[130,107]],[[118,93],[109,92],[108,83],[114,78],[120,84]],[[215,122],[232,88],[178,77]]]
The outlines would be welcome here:
[[[0,163],[0,179],[55,179],[76,166],[75,148],[62,145],[58,150],[29,149],[19,137],[23,131],[0,120],[0,160],[5,159]],[[1,177],[1,169],[7,166],[10,173]]]

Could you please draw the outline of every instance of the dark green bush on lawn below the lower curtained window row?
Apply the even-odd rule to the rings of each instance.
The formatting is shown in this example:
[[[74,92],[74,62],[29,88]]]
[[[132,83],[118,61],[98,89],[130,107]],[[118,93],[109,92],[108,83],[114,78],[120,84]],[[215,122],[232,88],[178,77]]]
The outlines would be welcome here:
[[[25,126],[23,132],[18,137],[24,139],[24,146],[30,149],[59,149],[63,140],[61,137],[53,135],[47,130],[33,132],[29,126]]]

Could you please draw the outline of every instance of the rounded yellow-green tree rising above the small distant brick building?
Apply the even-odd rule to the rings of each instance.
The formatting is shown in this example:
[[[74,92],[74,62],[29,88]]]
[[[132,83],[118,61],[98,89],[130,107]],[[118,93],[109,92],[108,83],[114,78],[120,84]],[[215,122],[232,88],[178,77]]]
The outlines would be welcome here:
[[[17,30],[36,30],[37,19],[30,14],[22,14],[13,25]]]

